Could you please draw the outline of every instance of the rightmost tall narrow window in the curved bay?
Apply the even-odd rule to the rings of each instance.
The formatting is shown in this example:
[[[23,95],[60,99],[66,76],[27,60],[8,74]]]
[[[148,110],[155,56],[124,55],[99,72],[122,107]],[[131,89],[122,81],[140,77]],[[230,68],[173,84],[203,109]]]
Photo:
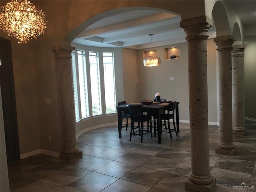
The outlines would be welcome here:
[[[103,53],[106,114],[116,113],[114,53]]]

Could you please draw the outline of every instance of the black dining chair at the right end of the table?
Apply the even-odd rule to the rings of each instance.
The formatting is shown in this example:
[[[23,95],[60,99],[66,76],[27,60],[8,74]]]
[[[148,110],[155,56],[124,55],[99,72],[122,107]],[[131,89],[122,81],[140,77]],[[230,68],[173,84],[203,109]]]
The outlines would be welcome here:
[[[163,128],[163,127],[165,128],[165,130],[162,130],[162,132],[170,133],[171,139],[172,139],[172,132],[174,132],[174,131],[176,133],[176,136],[178,136],[175,122],[174,122],[174,110],[176,108],[176,104],[177,104],[176,101],[168,103],[167,113],[160,114],[161,121],[164,120],[164,124],[162,124],[161,128]],[[173,122],[173,126],[174,126],[173,129],[170,128],[170,119],[172,119],[172,122]],[[168,129],[166,127],[166,120],[168,123]]]

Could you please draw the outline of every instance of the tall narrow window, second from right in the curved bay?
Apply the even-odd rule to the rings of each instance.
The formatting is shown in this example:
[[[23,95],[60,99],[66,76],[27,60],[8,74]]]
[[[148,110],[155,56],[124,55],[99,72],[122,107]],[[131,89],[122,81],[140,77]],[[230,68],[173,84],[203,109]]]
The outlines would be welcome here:
[[[89,52],[89,61],[92,95],[92,115],[95,116],[102,114],[98,52]]]

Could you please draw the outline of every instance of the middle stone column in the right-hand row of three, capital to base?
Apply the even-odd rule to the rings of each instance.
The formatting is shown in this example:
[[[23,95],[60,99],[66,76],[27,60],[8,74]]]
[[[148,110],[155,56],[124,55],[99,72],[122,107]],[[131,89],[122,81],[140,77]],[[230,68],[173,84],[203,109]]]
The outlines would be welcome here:
[[[232,133],[232,36],[214,38],[219,58],[220,142],[215,152],[235,155]]]

